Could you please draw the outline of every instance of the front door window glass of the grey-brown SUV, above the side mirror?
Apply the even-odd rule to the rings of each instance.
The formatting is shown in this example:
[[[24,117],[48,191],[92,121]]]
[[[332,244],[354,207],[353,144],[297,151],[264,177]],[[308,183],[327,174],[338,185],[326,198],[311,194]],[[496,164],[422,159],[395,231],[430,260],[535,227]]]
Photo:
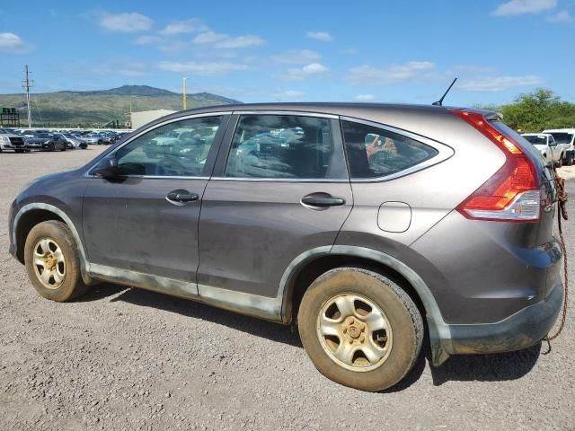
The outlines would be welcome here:
[[[119,172],[164,177],[207,176],[209,150],[223,117],[182,119],[138,136],[116,153]]]

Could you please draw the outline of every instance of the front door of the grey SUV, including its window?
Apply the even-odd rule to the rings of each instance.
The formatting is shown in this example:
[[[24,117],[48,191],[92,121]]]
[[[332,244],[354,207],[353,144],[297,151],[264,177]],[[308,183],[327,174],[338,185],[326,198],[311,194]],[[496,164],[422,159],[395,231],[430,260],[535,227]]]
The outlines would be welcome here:
[[[199,210],[228,118],[172,120],[111,154],[119,178],[93,178],[84,194],[94,272],[119,268],[128,281],[142,274],[180,280],[197,294]]]

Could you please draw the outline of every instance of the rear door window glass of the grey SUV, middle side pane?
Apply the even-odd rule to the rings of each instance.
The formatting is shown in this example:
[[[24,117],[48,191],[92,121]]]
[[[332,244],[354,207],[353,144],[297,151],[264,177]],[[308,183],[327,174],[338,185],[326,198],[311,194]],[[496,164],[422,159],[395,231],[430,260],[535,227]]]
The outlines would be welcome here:
[[[329,119],[243,115],[227,159],[226,177],[326,179],[332,175]]]

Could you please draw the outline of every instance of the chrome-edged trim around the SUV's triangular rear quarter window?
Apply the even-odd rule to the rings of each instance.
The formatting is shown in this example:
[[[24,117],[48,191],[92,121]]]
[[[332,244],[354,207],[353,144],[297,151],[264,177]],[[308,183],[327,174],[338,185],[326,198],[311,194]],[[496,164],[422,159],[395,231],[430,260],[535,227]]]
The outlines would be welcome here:
[[[427,169],[430,166],[433,166],[435,164],[445,162],[447,159],[451,158],[454,154],[456,154],[454,149],[449,145],[440,143],[440,142],[435,141],[433,139],[430,139],[429,137],[426,137],[426,136],[417,135],[417,134],[412,133],[408,130],[403,130],[402,128],[394,128],[393,126],[387,126],[385,124],[377,123],[375,121],[369,121],[367,119],[356,119],[354,117],[347,117],[347,116],[343,116],[343,115],[340,116],[340,127],[341,127],[341,121],[348,121],[351,123],[363,124],[364,126],[369,126],[372,128],[381,128],[383,130],[388,130],[388,131],[393,132],[397,135],[409,137],[409,138],[413,139],[414,141],[420,142],[421,144],[424,144],[424,145],[428,145],[428,146],[430,146],[430,147],[432,147],[438,151],[438,154],[435,155],[434,157],[431,157],[430,159],[427,159],[421,163],[414,164],[410,168],[404,169],[403,171],[395,172],[395,173],[392,173],[389,175],[385,175],[383,177],[354,179],[351,176],[351,172],[349,171],[348,153],[347,153],[347,151],[345,151],[345,136],[343,134],[343,129],[341,129],[341,139],[343,140],[343,148],[344,148],[343,153],[345,154],[346,163],[348,164],[349,181],[352,183],[354,183],[354,182],[385,182],[388,180],[395,180],[397,178],[401,178],[401,177],[404,177],[406,175],[411,175],[411,173],[422,171],[422,170]]]

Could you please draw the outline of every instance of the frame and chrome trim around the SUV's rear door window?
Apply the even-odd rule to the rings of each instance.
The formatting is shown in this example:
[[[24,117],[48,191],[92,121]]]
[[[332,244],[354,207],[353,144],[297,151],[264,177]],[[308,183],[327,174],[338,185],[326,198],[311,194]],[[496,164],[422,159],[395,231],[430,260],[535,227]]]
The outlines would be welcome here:
[[[341,166],[341,178],[241,178],[241,177],[226,177],[226,166],[229,156],[232,151],[232,144],[234,142],[235,131],[243,115],[282,115],[292,117],[314,117],[317,119],[329,119],[330,128],[332,129],[332,145],[333,156],[340,157],[343,161]],[[211,180],[219,181],[251,181],[251,182],[318,182],[318,183],[332,183],[332,182],[345,182],[349,183],[349,169],[345,155],[345,148],[343,146],[343,137],[341,136],[340,116],[333,114],[324,114],[320,112],[299,111],[299,110],[234,110],[233,116],[227,126],[226,136],[224,137],[224,145],[220,148],[220,152],[224,154],[218,156],[216,168],[214,172],[216,175],[210,178]]]

